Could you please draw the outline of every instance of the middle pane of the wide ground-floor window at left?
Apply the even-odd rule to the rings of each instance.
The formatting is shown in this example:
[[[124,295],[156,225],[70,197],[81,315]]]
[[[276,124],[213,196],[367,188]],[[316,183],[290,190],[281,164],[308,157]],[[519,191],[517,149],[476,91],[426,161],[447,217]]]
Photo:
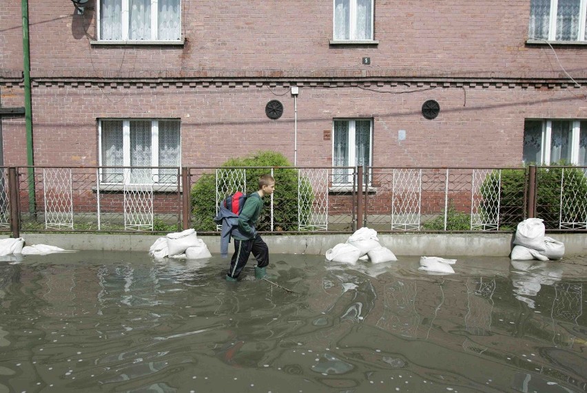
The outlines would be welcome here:
[[[151,121],[130,122],[130,164],[132,167],[151,166]],[[131,183],[152,182],[151,169],[131,169]]]

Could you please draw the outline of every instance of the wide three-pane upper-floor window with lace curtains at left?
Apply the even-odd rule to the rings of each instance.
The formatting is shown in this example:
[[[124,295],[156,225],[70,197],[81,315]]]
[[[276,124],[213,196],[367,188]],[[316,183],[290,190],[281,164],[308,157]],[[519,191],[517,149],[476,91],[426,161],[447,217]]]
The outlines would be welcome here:
[[[181,40],[181,0],[99,0],[98,3],[99,40]]]

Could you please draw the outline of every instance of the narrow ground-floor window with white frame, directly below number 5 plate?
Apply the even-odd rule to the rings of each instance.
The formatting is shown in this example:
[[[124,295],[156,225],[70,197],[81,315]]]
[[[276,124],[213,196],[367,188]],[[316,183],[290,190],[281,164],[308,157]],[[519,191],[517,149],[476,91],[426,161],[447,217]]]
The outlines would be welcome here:
[[[333,121],[333,167],[371,166],[371,119]],[[334,184],[351,184],[351,169],[335,169]]]

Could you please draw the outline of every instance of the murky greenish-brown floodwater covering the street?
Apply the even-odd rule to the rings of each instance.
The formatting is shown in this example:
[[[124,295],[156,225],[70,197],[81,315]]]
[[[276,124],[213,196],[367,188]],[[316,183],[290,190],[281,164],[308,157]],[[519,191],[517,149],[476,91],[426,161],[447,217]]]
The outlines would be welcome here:
[[[227,283],[216,255],[0,262],[0,392],[587,389],[587,258],[456,257],[453,275],[271,258],[281,287],[252,261]]]

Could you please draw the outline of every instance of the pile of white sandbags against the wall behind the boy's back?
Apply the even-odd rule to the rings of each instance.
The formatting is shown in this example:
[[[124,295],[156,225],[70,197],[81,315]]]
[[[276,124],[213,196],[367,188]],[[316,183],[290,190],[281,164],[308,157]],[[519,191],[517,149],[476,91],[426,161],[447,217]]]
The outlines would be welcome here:
[[[201,259],[212,257],[203,240],[198,239],[194,229],[167,233],[159,237],[149,248],[149,255],[162,259],[165,257]]]

